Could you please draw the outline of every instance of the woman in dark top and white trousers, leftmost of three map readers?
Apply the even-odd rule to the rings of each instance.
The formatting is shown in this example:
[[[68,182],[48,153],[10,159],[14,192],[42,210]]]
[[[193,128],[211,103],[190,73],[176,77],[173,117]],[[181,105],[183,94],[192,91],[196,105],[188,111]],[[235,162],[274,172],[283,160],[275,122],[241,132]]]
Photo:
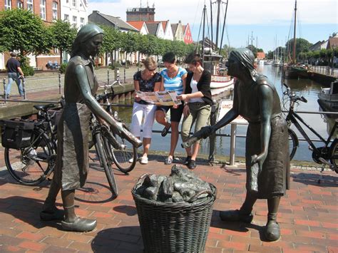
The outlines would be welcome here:
[[[156,72],[158,65],[155,58],[145,58],[143,65],[145,68],[142,71],[137,71],[133,76],[135,100],[133,103],[133,114],[131,118],[131,133],[140,139],[140,130],[143,121],[143,155],[142,158],[140,158],[140,163],[147,164],[148,151],[150,148],[153,124],[155,120],[156,105],[140,99],[136,91],[160,91],[162,78],[160,73]],[[133,162],[133,158],[131,158],[130,162]]]

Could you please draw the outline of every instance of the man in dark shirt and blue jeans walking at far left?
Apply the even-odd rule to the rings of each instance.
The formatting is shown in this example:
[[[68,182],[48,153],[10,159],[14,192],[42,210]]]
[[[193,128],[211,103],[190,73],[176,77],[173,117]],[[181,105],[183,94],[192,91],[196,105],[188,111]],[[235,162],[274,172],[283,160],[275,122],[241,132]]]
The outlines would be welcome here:
[[[16,85],[18,86],[19,94],[21,97],[24,96],[24,90],[22,88],[21,78],[24,78],[24,72],[22,72],[20,63],[16,59],[16,53],[11,52],[11,58],[6,63],[6,69],[9,77],[9,82],[6,86],[5,95],[6,98],[9,98],[9,95],[11,93],[11,84],[13,81],[16,82]]]

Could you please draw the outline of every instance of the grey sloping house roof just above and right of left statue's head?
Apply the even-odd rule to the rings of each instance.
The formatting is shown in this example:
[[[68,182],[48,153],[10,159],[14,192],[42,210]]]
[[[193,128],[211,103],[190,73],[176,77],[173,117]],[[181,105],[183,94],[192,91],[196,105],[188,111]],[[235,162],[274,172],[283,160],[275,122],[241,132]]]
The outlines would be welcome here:
[[[122,19],[116,16],[101,14],[99,11],[93,11],[93,13],[88,16],[88,22],[94,24],[103,24],[106,26],[113,26],[115,29],[123,32],[138,32],[138,29],[135,29],[134,26],[130,26],[130,24],[123,21]]]

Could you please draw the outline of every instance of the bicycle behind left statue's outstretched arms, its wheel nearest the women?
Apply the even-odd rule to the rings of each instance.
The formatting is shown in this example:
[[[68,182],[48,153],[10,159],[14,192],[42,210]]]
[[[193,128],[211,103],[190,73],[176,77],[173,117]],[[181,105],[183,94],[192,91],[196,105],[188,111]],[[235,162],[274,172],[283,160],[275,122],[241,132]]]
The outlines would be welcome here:
[[[101,105],[106,107],[106,111],[118,122],[121,122],[121,119],[118,118],[118,112],[112,110],[113,104],[111,103],[111,98],[114,97],[114,91],[113,91],[113,86],[118,83],[121,85],[119,78],[116,79],[111,84],[105,83],[104,86],[100,86],[103,88],[103,94],[102,95],[97,95],[96,100],[98,102],[103,101]],[[123,128],[127,132],[130,132],[126,124],[123,124]],[[116,165],[118,170],[120,170],[123,173],[128,173],[131,170],[134,169],[137,161],[137,147],[130,143],[128,139],[126,139],[125,136],[119,135],[117,133],[113,133],[113,138],[117,143],[120,143],[121,145],[119,148],[111,148],[111,152],[109,153],[111,155],[111,158],[113,160],[113,163]],[[89,144],[90,147],[93,146],[93,143]],[[111,145],[113,147],[113,145]]]

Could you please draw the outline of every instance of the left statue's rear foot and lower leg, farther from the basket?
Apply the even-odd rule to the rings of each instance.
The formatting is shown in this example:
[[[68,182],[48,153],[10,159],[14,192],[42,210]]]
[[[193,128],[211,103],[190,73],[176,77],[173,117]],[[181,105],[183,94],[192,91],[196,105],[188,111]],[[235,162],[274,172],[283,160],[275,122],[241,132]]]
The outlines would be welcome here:
[[[56,184],[54,180],[52,180],[48,196],[43,203],[42,211],[40,212],[41,220],[63,220],[65,212],[61,209],[58,209],[55,205],[56,196],[58,195],[59,191],[60,187]]]

